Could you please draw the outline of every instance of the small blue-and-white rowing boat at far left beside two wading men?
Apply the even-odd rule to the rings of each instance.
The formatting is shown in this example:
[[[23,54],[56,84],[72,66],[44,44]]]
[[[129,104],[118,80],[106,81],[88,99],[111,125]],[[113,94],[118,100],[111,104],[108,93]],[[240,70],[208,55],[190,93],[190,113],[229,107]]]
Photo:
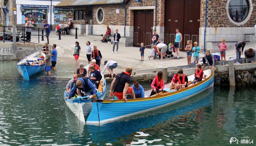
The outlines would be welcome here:
[[[45,54],[38,51],[17,63],[17,69],[23,79],[29,80],[29,77],[32,77],[45,69],[45,63],[40,64],[40,61],[44,60],[44,58],[40,58],[41,56],[45,58]]]

